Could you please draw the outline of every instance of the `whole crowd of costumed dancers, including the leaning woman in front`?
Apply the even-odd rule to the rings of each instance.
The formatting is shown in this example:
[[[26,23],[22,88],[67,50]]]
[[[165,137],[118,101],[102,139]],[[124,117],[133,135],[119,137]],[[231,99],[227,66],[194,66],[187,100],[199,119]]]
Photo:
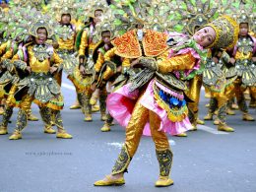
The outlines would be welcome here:
[[[204,124],[198,118],[202,86],[210,96],[204,120],[214,120],[219,131],[234,131],[225,121],[234,108],[242,120],[254,121],[246,103],[249,97],[249,107],[256,107],[253,3],[49,2],[10,1],[0,10],[0,135],[8,134],[13,108],[19,107],[9,139],[22,139],[28,120],[38,120],[34,102],[44,133],[55,134],[56,126],[57,138],[71,139],[60,113],[62,76],[67,77],[77,94],[71,108],[81,108],[86,122],[93,121],[98,102],[102,132],[110,131],[113,119],[125,127],[111,173],[95,185],[124,184],[141,136],[148,135],[160,163],[156,186],[169,186],[166,134],[184,137]]]

